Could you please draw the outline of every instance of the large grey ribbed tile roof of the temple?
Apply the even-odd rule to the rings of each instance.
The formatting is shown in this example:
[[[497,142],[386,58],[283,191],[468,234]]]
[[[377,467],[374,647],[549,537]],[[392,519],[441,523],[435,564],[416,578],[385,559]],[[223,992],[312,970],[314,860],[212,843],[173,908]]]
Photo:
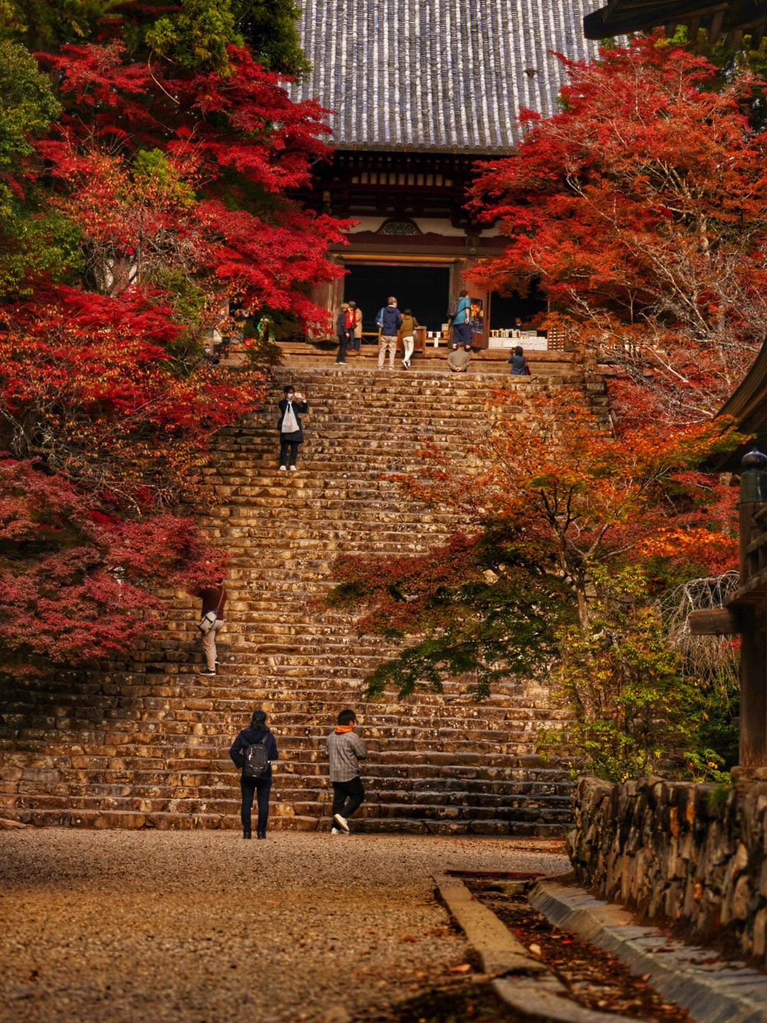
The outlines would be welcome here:
[[[303,0],[312,62],[295,99],[333,110],[333,144],[492,152],[520,136],[521,106],[555,109],[552,52],[596,54],[583,16],[598,0]]]

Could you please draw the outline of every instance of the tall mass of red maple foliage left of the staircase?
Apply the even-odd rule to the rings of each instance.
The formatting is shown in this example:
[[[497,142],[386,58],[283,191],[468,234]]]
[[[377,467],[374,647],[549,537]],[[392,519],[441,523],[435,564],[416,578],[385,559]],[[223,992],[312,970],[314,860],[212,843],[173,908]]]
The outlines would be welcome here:
[[[160,57],[131,23],[156,14],[122,11],[97,42],[38,54],[60,110],[47,101],[52,123],[4,177],[26,215],[15,234],[0,218],[15,259],[0,295],[0,644],[16,675],[126,652],[159,584],[194,590],[220,570],[179,502],[213,499],[197,470],[259,407],[260,341],[323,320],[310,285],[342,272],[327,249],[344,225],[292,197],[328,151],[321,108],[291,102],[244,45],[216,70]],[[32,249],[25,264],[29,225],[59,265]],[[212,331],[245,321],[244,364],[216,364]]]

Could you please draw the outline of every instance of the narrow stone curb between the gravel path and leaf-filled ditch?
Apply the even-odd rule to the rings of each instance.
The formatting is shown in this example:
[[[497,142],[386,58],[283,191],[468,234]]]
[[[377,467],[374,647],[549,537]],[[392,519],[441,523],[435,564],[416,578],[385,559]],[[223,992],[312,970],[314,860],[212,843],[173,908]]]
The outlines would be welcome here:
[[[445,904],[490,974],[496,994],[531,1023],[637,1023],[573,1002],[565,985],[535,959],[458,878],[435,874]]]

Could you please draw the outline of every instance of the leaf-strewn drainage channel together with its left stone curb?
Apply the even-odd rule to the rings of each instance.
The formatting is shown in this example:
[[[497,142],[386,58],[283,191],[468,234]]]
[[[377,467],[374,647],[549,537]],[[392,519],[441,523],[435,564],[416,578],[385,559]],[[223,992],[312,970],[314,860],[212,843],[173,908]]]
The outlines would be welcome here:
[[[471,972],[392,1007],[387,1023],[690,1023],[646,978],[538,913],[528,900],[538,877],[437,876],[440,896],[475,949]]]

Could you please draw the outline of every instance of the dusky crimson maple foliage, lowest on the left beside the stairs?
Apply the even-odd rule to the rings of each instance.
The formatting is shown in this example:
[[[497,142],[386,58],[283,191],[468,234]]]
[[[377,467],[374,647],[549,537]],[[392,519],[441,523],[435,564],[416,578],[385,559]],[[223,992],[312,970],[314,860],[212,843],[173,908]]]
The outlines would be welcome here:
[[[14,678],[114,659],[161,621],[159,584],[192,586],[225,562],[191,519],[126,521],[30,462],[0,461],[0,646]]]

